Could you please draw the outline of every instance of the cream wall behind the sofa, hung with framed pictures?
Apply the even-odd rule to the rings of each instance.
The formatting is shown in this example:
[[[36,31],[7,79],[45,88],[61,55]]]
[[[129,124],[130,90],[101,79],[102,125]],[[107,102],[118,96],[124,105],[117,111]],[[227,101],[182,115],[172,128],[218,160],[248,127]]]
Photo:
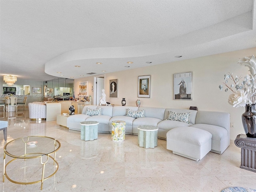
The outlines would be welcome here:
[[[240,66],[237,61],[252,54],[256,55],[256,48],[109,73],[105,76],[106,101],[121,105],[122,98],[125,98],[127,106],[136,106],[135,101],[140,99],[141,106],[186,109],[197,106],[198,110],[228,112],[230,121],[235,125],[230,131],[230,138],[234,140],[238,134],[244,134],[241,115],[245,108],[233,108],[228,104],[231,92],[220,91],[218,86],[224,82],[224,74],[227,72],[245,76],[248,68]],[[192,72],[192,100],[174,100],[173,74],[183,72]],[[142,75],[151,75],[150,98],[137,97],[138,76]],[[109,98],[108,84],[112,79],[118,79],[118,98]],[[76,79],[75,95],[78,94],[78,82],[87,80],[89,95],[93,95],[90,89],[93,77]]]

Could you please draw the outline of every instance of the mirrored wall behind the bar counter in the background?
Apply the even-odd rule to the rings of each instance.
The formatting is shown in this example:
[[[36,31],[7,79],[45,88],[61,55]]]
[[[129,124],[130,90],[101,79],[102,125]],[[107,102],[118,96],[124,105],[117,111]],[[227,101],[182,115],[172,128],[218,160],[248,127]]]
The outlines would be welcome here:
[[[69,100],[74,96],[74,79],[56,78],[44,81],[44,97]]]

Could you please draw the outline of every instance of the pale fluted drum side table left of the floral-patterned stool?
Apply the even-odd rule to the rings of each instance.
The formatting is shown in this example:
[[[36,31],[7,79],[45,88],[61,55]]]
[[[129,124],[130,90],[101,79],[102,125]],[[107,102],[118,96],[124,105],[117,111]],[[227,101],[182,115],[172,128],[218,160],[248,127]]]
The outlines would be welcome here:
[[[81,140],[92,141],[98,139],[98,121],[81,122]]]

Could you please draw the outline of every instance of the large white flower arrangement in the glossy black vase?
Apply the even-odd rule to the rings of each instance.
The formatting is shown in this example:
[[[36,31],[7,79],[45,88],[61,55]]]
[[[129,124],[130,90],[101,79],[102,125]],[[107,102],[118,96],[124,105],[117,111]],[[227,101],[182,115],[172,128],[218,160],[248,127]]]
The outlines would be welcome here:
[[[238,61],[238,64],[248,67],[250,74],[247,74],[242,82],[240,82],[241,76],[239,78],[237,76],[234,77],[232,73],[224,75],[225,82],[223,83],[227,87],[225,92],[232,91],[232,94],[228,97],[228,103],[233,107],[256,104],[256,59],[254,55],[244,57]],[[230,86],[228,86],[228,79],[232,80]],[[220,85],[219,88],[223,90],[223,85]]]

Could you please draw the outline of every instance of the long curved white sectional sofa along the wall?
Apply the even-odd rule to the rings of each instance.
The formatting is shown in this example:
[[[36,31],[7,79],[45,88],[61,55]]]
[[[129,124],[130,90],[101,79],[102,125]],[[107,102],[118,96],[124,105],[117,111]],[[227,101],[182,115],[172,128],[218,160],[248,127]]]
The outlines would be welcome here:
[[[86,115],[87,109],[102,108],[102,115]],[[134,118],[126,116],[127,109],[133,111],[144,110],[145,117]],[[168,111],[177,114],[190,114],[188,122],[167,120]],[[230,114],[224,112],[196,111],[175,108],[135,107],[135,106],[84,106],[82,114],[67,118],[67,127],[70,130],[80,131],[80,122],[98,121],[98,132],[111,133],[112,121],[126,122],[126,134],[138,134],[138,126],[152,125],[158,127],[158,138],[166,139],[168,131],[177,127],[194,127],[212,134],[212,152],[222,154],[230,145]]]

